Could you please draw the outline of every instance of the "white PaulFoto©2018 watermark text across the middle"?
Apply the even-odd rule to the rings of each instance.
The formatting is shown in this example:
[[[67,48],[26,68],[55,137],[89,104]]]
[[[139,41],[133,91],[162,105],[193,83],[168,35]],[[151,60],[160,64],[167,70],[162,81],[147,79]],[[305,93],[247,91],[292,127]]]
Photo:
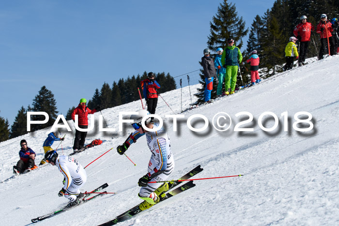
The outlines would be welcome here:
[[[32,115],[43,115],[45,116],[45,120],[43,121],[32,121],[31,120],[31,116]],[[123,112],[119,112],[119,131],[123,131],[123,123],[128,123],[131,124],[133,123],[133,120],[130,119],[123,119],[124,116],[130,116],[130,115],[138,115],[138,112],[129,112],[129,111],[123,111]],[[89,115],[91,117],[91,122],[89,128],[87,129],[81,129],[78,126],[78,116],[75,115],[75,128],[78,131],[82,131],[82,132],[88,132],[91,131],[94,128],[94,115]],[[247,118],[244,121],[239,121],[235,124],[233,131],[234,132],[253,132],[254,128],[245,128],[244,125],[246,124],[250,124],[253,125],[253,115],[247,111],[242,111],[242,112],[238,112],[234,115],[237,118],[240,118],[241,116],[245,116],[245,118]],[[150,117],[154,117],[159,121],[159,127],[163,126],[164,121],[162,120],[162,118],[158,115],[155,114],[150,114],[147,115],[147,117],[144,117],[141,121],[142,127],[144,128],[144,130],[146,131],[150,131],[150,132],[154,132],[157,131],[157,128],[147,128],[144,126],[145,124],[145,120],[150,118]],[[165,118],[168,119],[172,119],[173,120],[173,131],[176,132],[177,131],[177,120],[178,119],[184,119],[185,115],[165,115]],[[284,126],[284,131],[289,131],[289,117],[288,117],[288,112],[285,111],[283,113],[280,114],[280,118],[282,119],[282,123]],[[203,126],[200,128],[195,128],[194,126],[192,126],[192,121],[194,120],[202,120],[204,122]],[[273,119],[274,120],[274,124],[269,127],[266,128],[263,121],[265,119]],[[307,112],[307,111],[300,111],[294,114],[294,122],[293,122],[293,129],[295,131],[299,131],[299,132],[308,132],[310,130],[313,129],[314,124],[312,123],[312,115]],[[44,124],[46,122],[48,122],[49,120],[49,116],[46,112],[27,112],[27,131],[30,132],[31,131],[31,124]],[[62,123],[60,123],[60,120],[62,121]],[[259,118],[258,118],[258,125],[259,127],[265,131],[265,132],[271,132],[274,131],[275,129],[277,129],[278,125],[279,125],[279,118],[277,117],[277,115],[274,112],[270,112],[270,111],[266,111],[263,112]],[[60,123],[60,124],[59,124]],[[252,123],[252,124],[251,124]],[[298,124],[303,123],[303,126],[298,126]],[[208,126],[209,126],[209,121],[208,118],[204,115],[201,114],[195,114],[195,115],[191,115],[190,117],[188,117],[187,121],[186,121],[187,127],[188,129],[190,129],[193,132],[203,132],[205,131]],[[195,124],[195,123],[193,123]],[[231,124],[232,124],[232,119],[231,116],[226,113],[226,112],[218,112],[214,115],[214,117],[212,118],[212,125],[213,127],[218,130],[218,131],[227,131],[231,128]],[[308,125],[308,126],[305,126]],[[67,131],[72,131],[70,126],[68,125],[66,119],[63,117],[63,115],[58,115],[57,119],[55,120],[53,126],[51,127],[50,131],[54,131],[55,129],[58,128],[65,128],[67,129]],[[103,126],[103,116],[99,115],[99,131],[100,132],[115,132],[116,129],[115,128],[104,128]]]

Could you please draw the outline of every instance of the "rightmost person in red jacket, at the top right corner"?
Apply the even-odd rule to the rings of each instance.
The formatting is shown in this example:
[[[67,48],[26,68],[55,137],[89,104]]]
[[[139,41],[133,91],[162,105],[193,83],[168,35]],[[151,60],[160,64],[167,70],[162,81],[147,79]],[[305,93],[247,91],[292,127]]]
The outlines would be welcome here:
[[[334,44],[334,39],[331,34],[331,32],[333,31],[332,24],[327,20],[326,14],[322,14],[320,18],[321,18],[321,21],[317,25],[317,33],[320,34],[320,42],[321,42],[321,46],[319,50],[319,58],[318,58],[319,60],[324,58],[323,55],[324,55],[325,49],[327,50],[325,54],[328,53],[328,43],[330,45],[331,56],[337,54],[337,52],[334,49],[335,44]],[[327,38],[328,38],[328,43],[327,43]]]

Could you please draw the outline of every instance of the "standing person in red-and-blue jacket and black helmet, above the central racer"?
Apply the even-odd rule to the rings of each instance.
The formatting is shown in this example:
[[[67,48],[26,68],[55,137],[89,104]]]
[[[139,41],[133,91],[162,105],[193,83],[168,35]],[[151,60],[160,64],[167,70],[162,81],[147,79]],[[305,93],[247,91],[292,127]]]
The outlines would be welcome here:
[[[160,89],[160,85],[155,81],[153,72],[148,73],[148,78],[141,82],[141,87],[147,103],[147,110],[151,114],[155,114],[155,108],[158,103],[158,92],[156,90]]]

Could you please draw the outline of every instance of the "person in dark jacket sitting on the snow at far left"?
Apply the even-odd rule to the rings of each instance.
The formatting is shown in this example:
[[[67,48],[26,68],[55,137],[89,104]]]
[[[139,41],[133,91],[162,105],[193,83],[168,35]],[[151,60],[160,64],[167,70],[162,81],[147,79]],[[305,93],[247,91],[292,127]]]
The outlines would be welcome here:
[[[35,152],[31,150],[31,148],[27,147],[26,140],[21,140],[20,146],[20,160],[17,162],[16,166],[13,166],[13,173],[15,173],[16,175],[23,173],[26,169],[29,172],[32,169],[36,168],[34,163],[34,159],[36,156]]]

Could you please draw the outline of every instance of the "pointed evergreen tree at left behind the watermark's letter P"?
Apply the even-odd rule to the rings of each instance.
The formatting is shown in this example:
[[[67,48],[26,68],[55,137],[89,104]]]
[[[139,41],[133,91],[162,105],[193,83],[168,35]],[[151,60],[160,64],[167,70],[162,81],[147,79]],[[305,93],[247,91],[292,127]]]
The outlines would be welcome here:
[[[46,127],[52,126],[54,121],[57,118],[57,102],[54,99],[54,94],[46,89],[46,86],[43,86],[38,95],[35,96],[33,99],[33,107],[32,111],[42,111],[46,112],[49,116],[49,120],[45,124],[32,124],[31,125],[31,131],[36,131],[39,129],[44,129]],[[45,120],[45,116],[43,115],[32,115],[31,116],[32,121],[43,121]]]

